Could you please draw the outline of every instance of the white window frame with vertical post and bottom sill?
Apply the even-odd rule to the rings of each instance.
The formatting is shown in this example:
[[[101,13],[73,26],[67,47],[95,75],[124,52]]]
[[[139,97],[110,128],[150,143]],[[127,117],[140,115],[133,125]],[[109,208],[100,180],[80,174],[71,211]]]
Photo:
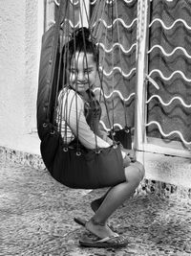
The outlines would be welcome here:
[[[137,91],[136,91],[136,115],[135,115],[135,138],[134,147],[137,151],[148,151],[174,155],[180,157],[189,157],[191,148],[182,144],[182,142],[164,140],[155,137],[149,137],[146,134],[147,120],[147,82],[148,74],[148,37],[150,20],[150,1],[138,0],[138,58],[137,58]],[[167,141],[167,140],[166,140]],[[166,145],[168,144],[168,146]]]

